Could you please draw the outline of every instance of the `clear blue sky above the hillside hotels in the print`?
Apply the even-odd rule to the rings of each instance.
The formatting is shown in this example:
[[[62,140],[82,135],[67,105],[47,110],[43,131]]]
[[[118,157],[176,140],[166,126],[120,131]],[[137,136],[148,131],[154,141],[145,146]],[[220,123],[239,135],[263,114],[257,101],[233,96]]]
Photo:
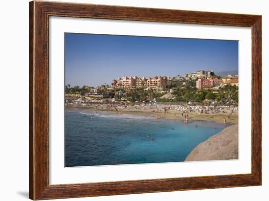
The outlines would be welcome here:
[[[65,33],[66,85],[238,70],[238,41]]]

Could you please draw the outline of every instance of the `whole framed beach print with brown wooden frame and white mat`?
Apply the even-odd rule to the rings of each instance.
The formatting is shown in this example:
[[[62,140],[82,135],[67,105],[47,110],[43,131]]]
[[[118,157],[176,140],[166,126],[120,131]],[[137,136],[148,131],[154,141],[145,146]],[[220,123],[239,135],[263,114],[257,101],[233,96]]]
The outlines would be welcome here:
[[[29,198],[262,185],[262,16],[29,3]]]

